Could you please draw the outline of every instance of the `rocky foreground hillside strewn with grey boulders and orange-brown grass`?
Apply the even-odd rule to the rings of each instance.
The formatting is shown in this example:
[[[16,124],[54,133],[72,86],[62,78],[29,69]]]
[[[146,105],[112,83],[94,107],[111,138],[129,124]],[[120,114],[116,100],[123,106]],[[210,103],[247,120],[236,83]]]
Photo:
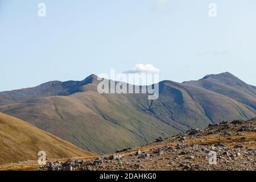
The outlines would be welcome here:
[[[256,170],[256,119],[209,125],[93,160],[51,161],[42,171]]]

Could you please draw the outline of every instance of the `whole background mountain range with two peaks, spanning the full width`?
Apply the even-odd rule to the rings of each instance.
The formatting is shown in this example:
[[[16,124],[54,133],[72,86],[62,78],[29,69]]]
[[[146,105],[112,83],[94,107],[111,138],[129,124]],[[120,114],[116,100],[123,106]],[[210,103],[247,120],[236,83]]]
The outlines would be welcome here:
[[[48,84],[47,92],[32,88],[34,95],[31,89],[2,92],[0,111],[98,154],[209,123],[256,117],[256,88],[230,73],[182,84],[162,81],[154,101],[147,94],[99,94],[96,75],[58,85]]]

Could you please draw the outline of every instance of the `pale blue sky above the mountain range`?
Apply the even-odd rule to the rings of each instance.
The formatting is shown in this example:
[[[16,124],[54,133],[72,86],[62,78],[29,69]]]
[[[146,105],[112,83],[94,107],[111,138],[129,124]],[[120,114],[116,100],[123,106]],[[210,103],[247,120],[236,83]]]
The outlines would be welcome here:
[[[139,68],[176,82],[230,72],[256,85],[255,9],[255,0],[0,0],[0,91]]]

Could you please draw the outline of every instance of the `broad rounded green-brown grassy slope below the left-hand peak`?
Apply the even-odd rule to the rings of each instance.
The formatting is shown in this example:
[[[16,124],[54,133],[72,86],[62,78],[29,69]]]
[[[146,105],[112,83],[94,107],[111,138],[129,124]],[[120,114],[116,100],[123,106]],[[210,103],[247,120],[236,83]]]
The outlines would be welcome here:
[[[98,154],[180,132],[116,96],[91,91],[38,98],[1,106],[1,110]]]

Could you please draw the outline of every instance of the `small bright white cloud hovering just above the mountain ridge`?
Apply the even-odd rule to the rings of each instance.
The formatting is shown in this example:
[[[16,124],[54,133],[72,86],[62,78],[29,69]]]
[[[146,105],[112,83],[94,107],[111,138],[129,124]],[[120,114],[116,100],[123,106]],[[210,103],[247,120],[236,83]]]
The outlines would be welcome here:
[[[160,69],[155,68],[152,64],[137,64],[124,73],[160,73]]]

